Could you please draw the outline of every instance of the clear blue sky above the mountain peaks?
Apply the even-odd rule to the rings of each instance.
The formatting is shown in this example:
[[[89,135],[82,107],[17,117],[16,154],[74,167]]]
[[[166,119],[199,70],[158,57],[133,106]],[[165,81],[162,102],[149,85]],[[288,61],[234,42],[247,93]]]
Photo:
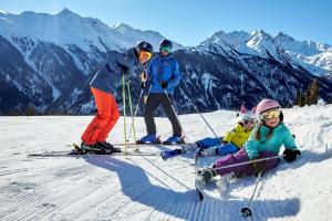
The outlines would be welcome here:
[[[219,30],[257,29],[332,44],[330,0],[0,0],[0,9],[11,13],[63,8],[110,27],[123,22],[158,31],[183,45],[196,45]]]

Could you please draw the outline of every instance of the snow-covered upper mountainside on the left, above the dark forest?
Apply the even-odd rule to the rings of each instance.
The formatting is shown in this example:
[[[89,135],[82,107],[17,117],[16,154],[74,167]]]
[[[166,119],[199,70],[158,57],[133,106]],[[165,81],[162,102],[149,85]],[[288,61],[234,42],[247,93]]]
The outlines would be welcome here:
[[[126,24],[110,28],[98,19],[82,18],[69,9],[56,14],[0,11],[0,34],[8,39],[28,36],[32,41],[52,42],[60,46],[74,44],[84,51],[91,51],[92,45],[100,51],[118,51],[142,40],[152,42],[157,51],[158,42],[164,39],[158,32],[134,30]]]

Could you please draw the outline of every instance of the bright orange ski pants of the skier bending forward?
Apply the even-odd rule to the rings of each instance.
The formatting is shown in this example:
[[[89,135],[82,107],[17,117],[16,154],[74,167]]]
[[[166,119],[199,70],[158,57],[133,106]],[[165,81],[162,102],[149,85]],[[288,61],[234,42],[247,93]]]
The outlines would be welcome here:
[[[106,141],[120,117],[116,101],[112,94],[94,87],[91,87],[91,92],[97,107],[97,114],[82,135],[82,140],[87,145]]]

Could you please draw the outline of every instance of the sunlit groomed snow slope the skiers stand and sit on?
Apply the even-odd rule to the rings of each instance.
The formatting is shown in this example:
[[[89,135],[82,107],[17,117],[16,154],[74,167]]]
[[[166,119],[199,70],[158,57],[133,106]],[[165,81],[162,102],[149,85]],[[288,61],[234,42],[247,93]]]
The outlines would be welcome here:
[[[222,135],[235,112],[204,116]],[[68,150],[91,116],[0,117],[0,220],[243,220],[255,177],[216,178],[205,201],[194,190],[193,154],[158,156],[28,158],[28,152]],[[199,115],[179,116],[189,141],[212,136]],[[282,162],[258,186],[248,220],[320,220],[332,217],[332,105],[284,109],[284,122],[302,156]],[[166,118],[158,134],[170,135]],[[128,128],[128,127],[127,127]],[[136,136],[145,134],[143,118]],[[123,143],[123,118],[108,141]],[[158,152],[175,147],[142,146]],[[208,166],[211,159],[203,159]]]

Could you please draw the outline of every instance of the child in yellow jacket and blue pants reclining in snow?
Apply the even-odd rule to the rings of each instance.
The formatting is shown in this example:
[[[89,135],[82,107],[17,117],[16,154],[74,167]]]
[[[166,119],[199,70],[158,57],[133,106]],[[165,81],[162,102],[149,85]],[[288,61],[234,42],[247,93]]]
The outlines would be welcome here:
[[[180,149],[162,151],[160,155],[164,159],[167,159],[168,157],[186,151],[196,151],[195,157],[237,152],[249,138],[256,123],[255,108],[247,110],[242,105],[240,109],[240,120],[235,128],[226,133],[224,138],[207,137],[189,146],[186,145]]]

